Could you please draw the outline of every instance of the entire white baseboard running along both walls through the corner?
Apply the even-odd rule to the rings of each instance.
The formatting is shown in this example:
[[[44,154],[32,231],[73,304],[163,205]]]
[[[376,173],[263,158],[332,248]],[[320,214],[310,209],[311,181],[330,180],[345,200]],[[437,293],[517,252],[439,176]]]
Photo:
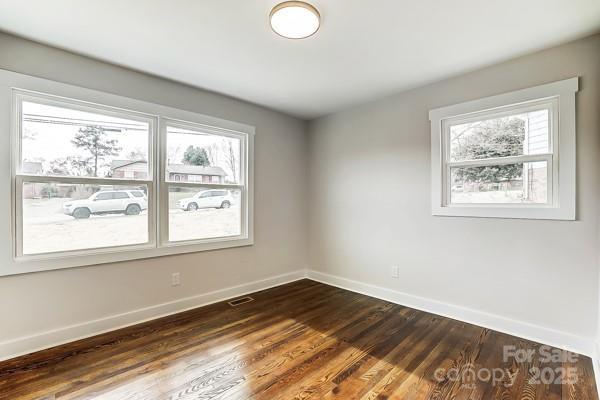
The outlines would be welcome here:
[[[105,318],[86,321],[60,329],[0,342],[0,361],[193,308],[217,303],[232,297],[243,296],[248,293],[283,285],[307,277],[327,285],[336,286],[356,293],[415,308],[417,310],[430,312],[589,356],[594,362],[597,386],[600,390],[600,342],[596,342],[591,338],[580,337],[527,322],[517,321],[466,307],[442,303],[436,300],[418,297],[314,270],[298,270],[243,285],[232,286]]]

